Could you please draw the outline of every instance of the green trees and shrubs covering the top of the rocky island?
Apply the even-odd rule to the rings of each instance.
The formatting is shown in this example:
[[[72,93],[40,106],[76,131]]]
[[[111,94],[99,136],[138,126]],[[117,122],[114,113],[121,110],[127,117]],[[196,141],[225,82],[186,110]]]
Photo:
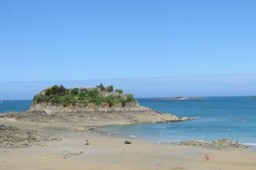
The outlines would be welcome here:
[[[100,87],[103,85],[100,84]],[[104,86],[103,86],[104,87]],[[113,92],[113,86],[107,86],[104,88],[107,92]],[[122,90],[116,90],[117,93],[123,93]],[[38,93],[33,97],[35,103],[53,103],[55,105],[62,105],[64,107],[68,105],[75,105],[77,103],[86,106],[88,103],[95,103],[95,105],[101,105],[102,103],[108,103],[110,107],[116,103],[121,103],[125,107],[126,103],[136,101],[133,95],[100,95],[99,90],[86,90],[74,88],[72,90],[66,89],[64,86],[54,85],[51,88],[47,88],[44,93]]]

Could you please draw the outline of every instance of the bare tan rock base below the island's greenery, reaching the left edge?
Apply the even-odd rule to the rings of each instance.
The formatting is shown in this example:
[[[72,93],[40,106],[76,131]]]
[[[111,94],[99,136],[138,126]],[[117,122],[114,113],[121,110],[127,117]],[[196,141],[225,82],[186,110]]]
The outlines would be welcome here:
[[[133,107],[131,109],[120,109],[116,111],[106,112],[104,106],[102,110],[92,106],[91,111],[64,111],[54,110],[45,111],[45,109],[28,110],[24,112],[10,112],[2,114],[2,118],[12,118],[19,122],[35,122],[40,126],[46,126],[51,129],[68,129],[72,131],[89,131],[92,128],[99,126],[110,125],[127,125],[141,123],[169,123],[186,120],[194,120],[194,118],[182,117],[179,118],[172,114],[162,114],[146,107]],[[93,111],[94,110],[94,111]]]

